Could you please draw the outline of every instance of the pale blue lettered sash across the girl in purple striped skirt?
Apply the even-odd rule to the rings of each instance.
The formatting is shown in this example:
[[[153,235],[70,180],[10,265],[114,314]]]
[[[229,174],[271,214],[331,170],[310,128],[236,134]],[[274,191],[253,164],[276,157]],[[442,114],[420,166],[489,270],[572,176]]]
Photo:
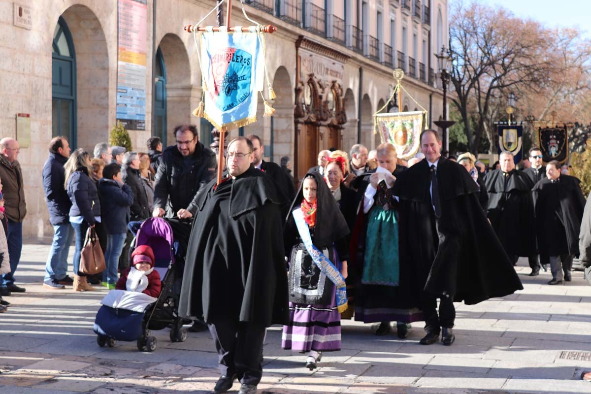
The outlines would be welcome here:
[[[347,287],[345,285],[345,278],[340,273],[340,271],[336,268],[336,266],[330,262],[330,260],[316,248],[316,246],[312,243],[312,237],[310,236],[310,229],[306,224],[306,220],[304,220],[304,214],[302,213],[301,209],[298,208],[292,212],[294,221],[296,222],[296,227],[298,233],[300,233],[301,241],[304,243],[306,247],[306,251],[312,258],[312,261],[320,271],[326,275],[327,278],[333,284],[335,284],[336,292],[335,292],[335,299],[337,310],[339,313],[342,313],[347,310]]]

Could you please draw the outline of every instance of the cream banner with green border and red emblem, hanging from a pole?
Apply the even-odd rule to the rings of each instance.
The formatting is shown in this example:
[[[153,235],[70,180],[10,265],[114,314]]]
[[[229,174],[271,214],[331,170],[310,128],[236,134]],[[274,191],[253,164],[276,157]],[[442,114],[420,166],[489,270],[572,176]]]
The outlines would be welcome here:
[[[418,137],[423,131],[424,111],[377,113],[375,125],[382,142],[395,146],[399,159],[413,157],[420,145]]]

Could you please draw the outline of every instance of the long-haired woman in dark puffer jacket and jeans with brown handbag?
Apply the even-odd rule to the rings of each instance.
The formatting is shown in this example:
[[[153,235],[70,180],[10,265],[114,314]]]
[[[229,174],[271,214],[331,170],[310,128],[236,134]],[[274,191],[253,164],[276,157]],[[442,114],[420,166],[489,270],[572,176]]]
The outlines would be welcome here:
[[[70,223],[76,234],[76,250],[74,251],[74,291],[94,290],[86,280],[86,275],[80,272],[80,256],[86,231],[100,222],[100,200],[95,182],[90,178],[90,155],[82,148],[72,152],[64,165],[66,171],[66,191],[72,207],[70,208]]]

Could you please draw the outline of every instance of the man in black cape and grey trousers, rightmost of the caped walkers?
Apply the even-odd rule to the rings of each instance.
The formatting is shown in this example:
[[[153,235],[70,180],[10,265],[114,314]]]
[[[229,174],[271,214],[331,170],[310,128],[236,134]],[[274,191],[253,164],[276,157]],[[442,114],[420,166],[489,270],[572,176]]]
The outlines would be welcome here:
[[[579,184],[577,178],[561,175],[560,162],[553,160],[546,165],[546,177],[533,189],[538,246],[540,254],[550,259],[549,285],[571,281],[585,206]]]

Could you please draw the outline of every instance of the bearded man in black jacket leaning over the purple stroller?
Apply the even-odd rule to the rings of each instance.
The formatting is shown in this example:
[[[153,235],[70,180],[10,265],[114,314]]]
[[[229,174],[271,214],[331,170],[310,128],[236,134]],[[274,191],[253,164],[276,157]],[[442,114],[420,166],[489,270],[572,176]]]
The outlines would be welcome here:
[[[177,126],[174,136],[177,145],[160,157],[152,215],[188,219],[197,212],[193,199],[215,177],[216,155],[199,142],[195,125]]]

